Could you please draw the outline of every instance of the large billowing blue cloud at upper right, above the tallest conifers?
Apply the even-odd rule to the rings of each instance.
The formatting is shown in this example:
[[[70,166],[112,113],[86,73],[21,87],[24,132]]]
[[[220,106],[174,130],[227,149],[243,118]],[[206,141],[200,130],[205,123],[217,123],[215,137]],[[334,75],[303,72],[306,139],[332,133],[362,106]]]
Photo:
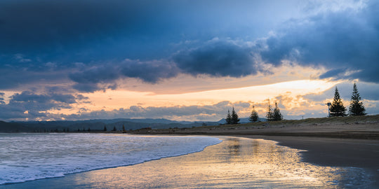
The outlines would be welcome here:
[[[358,13],[347,9],[292,20],[286,29],[263,41],[267,48],[261,49],[260,55],[274,65],[288,59],[330,69],[321,78],[379,83],[378,11],[378,3],[369,3]]]

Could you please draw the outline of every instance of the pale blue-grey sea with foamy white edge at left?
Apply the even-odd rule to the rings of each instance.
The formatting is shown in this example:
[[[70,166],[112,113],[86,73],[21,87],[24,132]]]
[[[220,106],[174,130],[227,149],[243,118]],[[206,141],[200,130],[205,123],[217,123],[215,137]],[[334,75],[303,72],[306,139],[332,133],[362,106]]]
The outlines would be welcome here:
[[[215,137],[0,133],[0,184],[65,176],[203,151]]]

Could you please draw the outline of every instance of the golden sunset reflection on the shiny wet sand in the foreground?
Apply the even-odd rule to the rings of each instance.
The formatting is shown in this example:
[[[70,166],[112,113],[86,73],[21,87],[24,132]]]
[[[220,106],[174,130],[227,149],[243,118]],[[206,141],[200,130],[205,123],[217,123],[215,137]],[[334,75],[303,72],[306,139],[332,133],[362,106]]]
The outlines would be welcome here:
[[[299,150],[274,141],[220,138],[221,144],[201,153],[69,177],[79,188],[346,188],[364,184],[354,178],[361,174],[301,162]]]

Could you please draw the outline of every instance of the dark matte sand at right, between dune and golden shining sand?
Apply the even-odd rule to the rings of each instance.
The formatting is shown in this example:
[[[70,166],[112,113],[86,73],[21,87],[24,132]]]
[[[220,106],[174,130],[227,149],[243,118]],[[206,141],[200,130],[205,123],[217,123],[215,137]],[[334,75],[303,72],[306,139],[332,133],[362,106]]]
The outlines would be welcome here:
[[[332,167],[360,167],[369,172],[372,188],[379,188],[379,140],[327,137],[244,136],[278,141],[279,145],[305,150],[302,161]]]

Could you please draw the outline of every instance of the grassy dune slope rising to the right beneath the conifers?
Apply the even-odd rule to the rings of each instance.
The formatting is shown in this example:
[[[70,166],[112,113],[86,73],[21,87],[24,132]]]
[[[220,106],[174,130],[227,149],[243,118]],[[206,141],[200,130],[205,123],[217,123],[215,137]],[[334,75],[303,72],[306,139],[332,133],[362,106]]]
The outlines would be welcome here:
[[[307,118],[274,122],[218,125],[166,130],[138,130],[133,134],[270,135],[379,139],[379,115]]]

